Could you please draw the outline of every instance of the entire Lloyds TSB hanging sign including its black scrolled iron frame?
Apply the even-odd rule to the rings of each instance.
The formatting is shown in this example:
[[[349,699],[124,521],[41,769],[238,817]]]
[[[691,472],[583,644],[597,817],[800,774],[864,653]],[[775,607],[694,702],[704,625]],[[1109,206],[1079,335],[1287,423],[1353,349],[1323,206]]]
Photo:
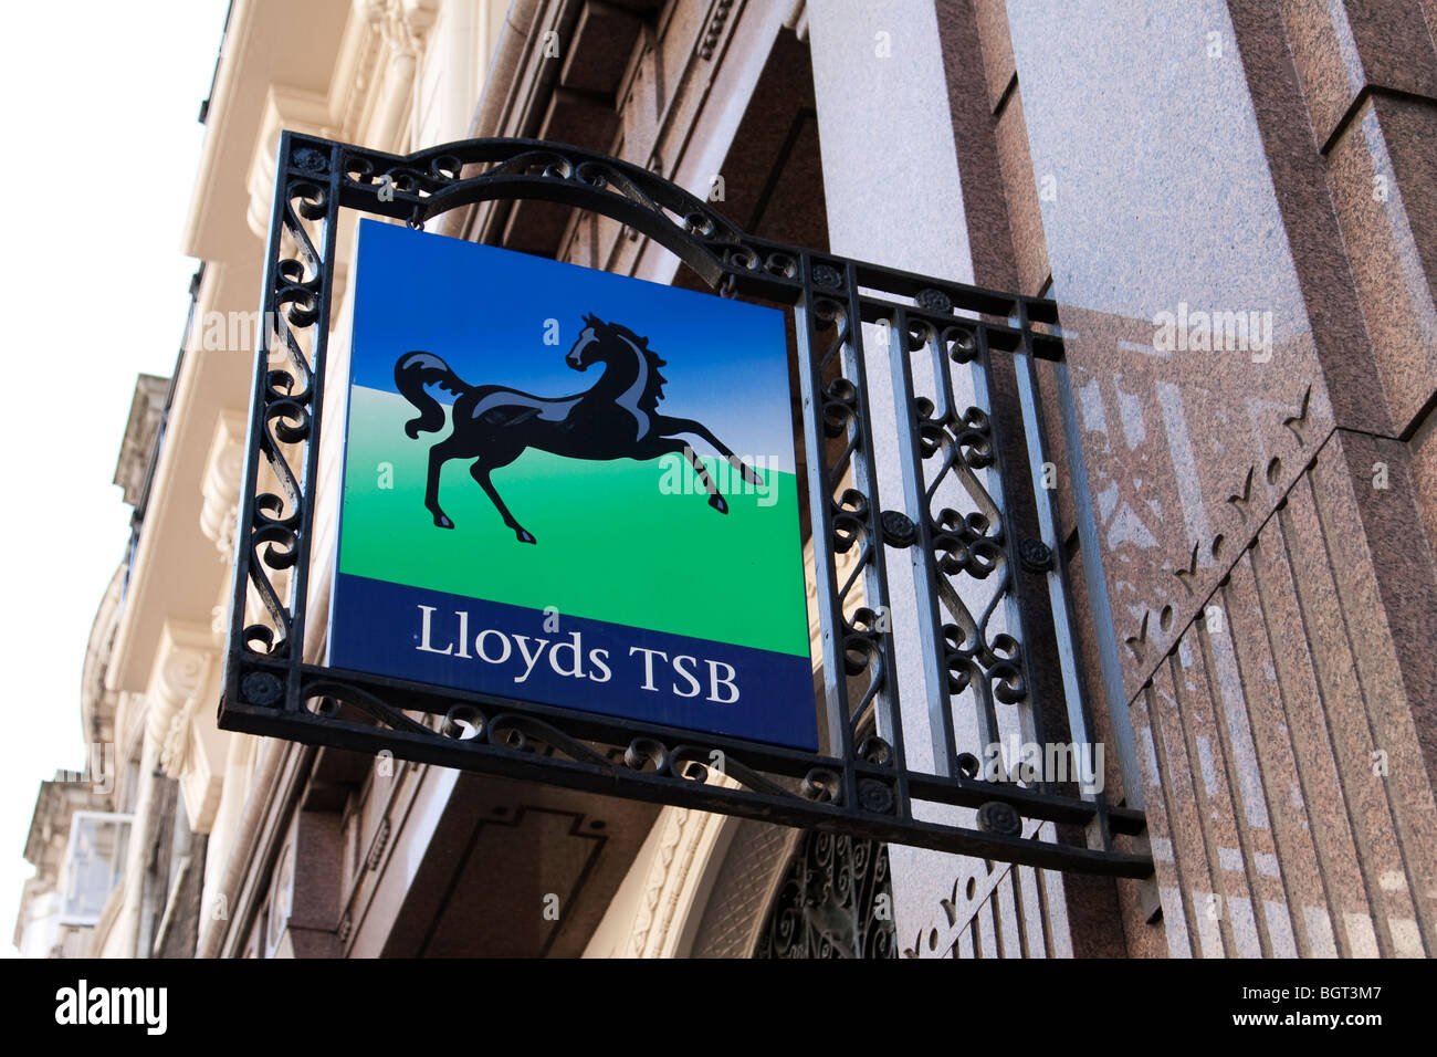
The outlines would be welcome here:
[[[484,201],[606,217],[707,289],[792,316],[414,230]],[[411,227],[359,224],[352,316],[336,326],[352,213]],[[1140,810],[966,765],[1002,741],[1000,720],[1050,743],[1045,718],[1066,715],[1071,743],[1092,742],[1065,572],[1048,561],[1052,495],[1032,490],[1027,535],[1003,506],[1049,459],[1036,360],[1068,406],[1052,302],[759,239],[660,174],[579,147],[467,139],[399,157],[283,132],[262,305],[220,729],[1151,876],[1150,857],[1114,843],[1142,833]],[[865,321],[888,326],[874,341]],[[332,329],[348,331],[348,361]],[[1012,414],[987,398],[1000,358],[1016,372]],[[875,372],[892,387],[878,420]],[[315,485],[338,426],[326,390],[348,417],[342,480],[325,493],[339,498],[339,539],[316,664]],[[902,493],[897,508],[878,493],[877,430],[901,456],[882,489]],[[1019,477],[1003,462],[1015,450],[1027,453]],[[1085,480],[1081,446],[1066,452]],[[911,567],[917,598],[897,630],[875,617],[891,567]],[[986,608],[969,611],[974,600]],[[1010,616],[1002,633],[994,613]],[[1050,680],[1033,679],[1035,634]],[[927,695],[925,715],[902,722],[900,656],[923,660]],[[1102,844],[1025,836],[1040,823]]]

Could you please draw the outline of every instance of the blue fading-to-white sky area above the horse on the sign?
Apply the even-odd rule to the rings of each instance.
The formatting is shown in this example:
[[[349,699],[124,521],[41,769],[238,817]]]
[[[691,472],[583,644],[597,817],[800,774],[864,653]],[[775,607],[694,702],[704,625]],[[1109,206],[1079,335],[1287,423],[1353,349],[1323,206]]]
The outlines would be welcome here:
[[[787,344],[777,309],[609,275],[394,224],[359,224],[355,385],[395,391],[394,361],[441,357],[471,385],[581,393],[563,361],[586,312],[648,338],[667,365],[660,411],[703,421],[763,469],[793,473]],[[546,321],[559,344],[546,345]],[[445,393],[435,397],[451,400]],[[703,441],[700,454],[708,454]]]

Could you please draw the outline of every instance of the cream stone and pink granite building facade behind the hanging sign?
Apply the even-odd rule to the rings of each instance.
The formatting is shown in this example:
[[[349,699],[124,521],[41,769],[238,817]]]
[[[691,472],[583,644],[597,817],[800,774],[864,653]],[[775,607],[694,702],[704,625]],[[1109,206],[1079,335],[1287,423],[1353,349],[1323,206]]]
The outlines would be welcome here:
[[[236,0],[190,207],[203,269],[185,351],[162,406],[147,398],[158,417],[132,414],[137,535],[85,676],[86,738],[118,758],[114,792],[91,795],[131,820],[88,949],[1430,955],[1434,32],[1431,0]],[[1145,814],[1129,847],[1154,876],[220,731],[282,129],[395,154],[573,144],[754,236],[1055,301],[1066,375],[1039,370],[1046,440],[1078,446],[1086,473],[1055,459],[1043,486],[1105,795]],[[701,286],[632,229],[556,203],[483,203],[433,230]],[[331,371],[354,227],[338,237]],[[888,488],[900,453],[877,434]],[[341,456],[331,430],[312,605]],[[914,588],[892,584],[901,631]],[[900,654],[897,677],[921,687],[921,659]],[[45,817],[65,818],[52,800]],[[1083,841],[1050,823],[1033,836]],[[53,840],[32,844],[50,863]]]

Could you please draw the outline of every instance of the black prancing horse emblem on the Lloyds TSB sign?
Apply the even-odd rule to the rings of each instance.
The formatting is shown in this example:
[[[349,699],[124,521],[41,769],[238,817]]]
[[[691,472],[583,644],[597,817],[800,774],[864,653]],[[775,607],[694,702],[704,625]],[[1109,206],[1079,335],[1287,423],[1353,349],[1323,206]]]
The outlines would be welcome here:
[[[535,542],[533,535],[504,506],[489,476],[499,467],[509,466],[527,447],[592,460],[642,460],[671,452],[683,453],[707,489],[708,505],[718,513],[727,513],[729,503],[718,493],[703,462],[688,443],[677,439],[678,434],[688,433],[713,444],[743,473],[746,482],[763,483],[703,423],[658,414],[667,381],[658,368],[665,361],[650,351],[648,338],[641,338],[619,324],[585,315],[583,329],[565,362],[575,371],[604,364],[604,374],[583,393],[536,397],[503,385],[470,385],[433,352],[405,352],[394,364],[395,385],[420,413],[418,418],[404,424],[411,440],[418,440],[420,433],[438,433],[444,429],[444,408],[425,391],[425,385],[438,385],[456,397],[450,413],[453,430],[430,449],[424,505],[434,515],[435,525],[454,528],[454,522],[440,508],[440,470],[450,459],[473,459],[468,472],[493,500],[504,523],[514,531],[519,542]]]

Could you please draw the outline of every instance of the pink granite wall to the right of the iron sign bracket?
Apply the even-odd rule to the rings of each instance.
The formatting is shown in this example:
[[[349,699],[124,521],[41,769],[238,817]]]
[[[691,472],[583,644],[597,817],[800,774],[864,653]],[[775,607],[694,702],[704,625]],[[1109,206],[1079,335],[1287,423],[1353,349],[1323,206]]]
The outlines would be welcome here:
[[[1437,7],[938,9],[976,279],[1059,302],[1157,860],[1161,916],[1068,893],[1075,951],[1431,953]],[[1272,355],[1163,348],[1180,302]]]

